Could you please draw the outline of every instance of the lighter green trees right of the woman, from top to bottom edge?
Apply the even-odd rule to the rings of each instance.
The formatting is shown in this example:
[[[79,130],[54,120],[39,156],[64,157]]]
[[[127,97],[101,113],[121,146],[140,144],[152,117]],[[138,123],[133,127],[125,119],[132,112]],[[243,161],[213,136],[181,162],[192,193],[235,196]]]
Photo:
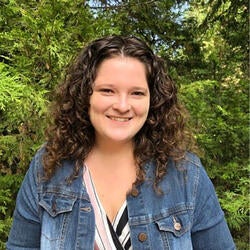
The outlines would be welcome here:
[[[247,19],[244,1],[190,3],[186,26],[191,24],[201,63],[190,70],[192,83],[182,86],[203,162],[239,249],[249,242]]]

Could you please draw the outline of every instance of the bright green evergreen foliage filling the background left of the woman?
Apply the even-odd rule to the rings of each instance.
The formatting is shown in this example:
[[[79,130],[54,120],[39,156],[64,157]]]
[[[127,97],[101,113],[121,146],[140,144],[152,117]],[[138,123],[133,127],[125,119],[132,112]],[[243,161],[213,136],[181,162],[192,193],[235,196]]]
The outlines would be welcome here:
[[[77,48],[94,36],[83,1],[0,1],[0,249],[46,108]]]

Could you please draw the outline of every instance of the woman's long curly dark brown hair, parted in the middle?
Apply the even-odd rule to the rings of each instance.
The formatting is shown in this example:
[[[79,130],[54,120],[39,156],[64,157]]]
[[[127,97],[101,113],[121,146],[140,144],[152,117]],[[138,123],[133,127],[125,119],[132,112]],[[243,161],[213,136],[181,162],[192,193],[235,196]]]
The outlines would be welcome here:
[[[166,174],[169,157],[178,160],[184,156],[189,141],[185,130],[186,111],[179,104],[176,86],[168,76],[163,60],[136,37],[109,36],[83,48],[58,86],[50,114],[53,121],[46,131],[43,157],[46,178],[51,178],[65,159],[75,162],[72,178],[78,175],[95,143],[88,110],[98,67],[103,60],[121,55],[136,58],[146,66],[150,90],[147,120],[134,137],[134,157],[138,167],[135,184],[145,180],[144,164],[147,161],[155,162],[154,185],[157,186]]]

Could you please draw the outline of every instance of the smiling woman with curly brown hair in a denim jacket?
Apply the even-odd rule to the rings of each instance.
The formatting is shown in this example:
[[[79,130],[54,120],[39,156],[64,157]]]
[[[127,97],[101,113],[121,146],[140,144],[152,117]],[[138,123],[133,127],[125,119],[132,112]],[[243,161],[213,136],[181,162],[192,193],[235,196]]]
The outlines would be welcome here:
[[[84,48],[20,188],[8,249],[235,249],[162,60],[135,37]]]

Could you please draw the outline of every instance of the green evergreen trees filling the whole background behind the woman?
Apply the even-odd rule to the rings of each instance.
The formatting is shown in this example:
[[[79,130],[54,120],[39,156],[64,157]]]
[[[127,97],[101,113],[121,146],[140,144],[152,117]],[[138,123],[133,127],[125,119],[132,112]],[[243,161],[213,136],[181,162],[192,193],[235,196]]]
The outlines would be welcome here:
[[[46,108],[83,44],[136,35],[169,66],[239,249],[248,249],[248,4],[0,0],[0,249]]]

